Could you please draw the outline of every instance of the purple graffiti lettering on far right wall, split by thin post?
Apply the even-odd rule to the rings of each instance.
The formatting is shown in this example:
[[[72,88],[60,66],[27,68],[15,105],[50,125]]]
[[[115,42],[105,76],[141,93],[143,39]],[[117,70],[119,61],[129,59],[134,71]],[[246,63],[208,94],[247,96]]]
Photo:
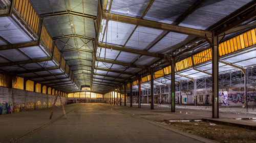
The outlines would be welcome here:
[[[248,93],[248,99],[247,101],[248,102],[256,102],[256,93]],[[238,103],[238,102],[241,102],[241,103],[244,103],[244,93],[230,93],[228,94],[228,97],[227,97],[227,100],[230,100],[234,103]]]

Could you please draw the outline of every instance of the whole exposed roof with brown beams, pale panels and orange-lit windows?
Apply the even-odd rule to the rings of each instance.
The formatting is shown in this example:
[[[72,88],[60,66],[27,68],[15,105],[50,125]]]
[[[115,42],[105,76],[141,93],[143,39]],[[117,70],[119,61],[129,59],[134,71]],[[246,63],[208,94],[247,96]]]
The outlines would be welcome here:
[[[219,72],[255,66],[253,0],[1,2],[0,69],[66,93],[211,76],[213,35]]]

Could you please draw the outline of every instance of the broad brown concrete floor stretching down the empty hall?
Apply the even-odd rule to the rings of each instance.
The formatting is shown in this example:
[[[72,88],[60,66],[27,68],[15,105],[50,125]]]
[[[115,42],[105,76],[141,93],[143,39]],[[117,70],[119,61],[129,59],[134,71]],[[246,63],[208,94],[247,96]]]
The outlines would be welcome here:
[[[51,120],[50,109],[0,116],[0,142],[211,142],[150,118],[169,115],[162,111],[105,103],[71,104],[65,109],[68,119],[61,107],[55,108]]]

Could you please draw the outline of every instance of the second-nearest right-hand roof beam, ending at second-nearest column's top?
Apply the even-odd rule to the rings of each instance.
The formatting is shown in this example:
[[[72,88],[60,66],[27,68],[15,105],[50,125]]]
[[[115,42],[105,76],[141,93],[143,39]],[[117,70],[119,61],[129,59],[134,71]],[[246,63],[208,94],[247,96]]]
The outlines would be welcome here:
[[[102,44],[102,43],[98,43],[98,46],[102,47],[102,48],[106,48],[106,49],[113,49],[113,50],[118,50],[118,51],[154,56],[157,58],[165,58],[165,54],[162,54],[162,53],[156,53],[156,52],[150,52],[150,51],[145,51],[145,50],[138,50],[138,49],[133,49],[133,48],[126,48],[126,47],[120,47],[120,46],[108,45],[108,44]]]

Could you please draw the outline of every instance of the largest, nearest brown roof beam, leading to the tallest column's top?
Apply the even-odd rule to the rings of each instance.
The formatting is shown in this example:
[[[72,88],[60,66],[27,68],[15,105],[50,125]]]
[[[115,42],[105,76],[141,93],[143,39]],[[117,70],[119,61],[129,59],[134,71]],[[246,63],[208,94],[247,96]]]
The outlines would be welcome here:
[[[138,18],[134,18],[134,17],[123,16],[123,15],[118,15],[118,14],[113,14],[113,13],[103,12],[102,17],[104,19],[111,19],[113,21],[129,23],[129,24],[134,24],[134,25],[139,25],[139,26],[145,26],[145,27],[150,27],[150,28],[156,28],[159,30],[171,31],[171,32],[175,32],[175,33],[194,35],[194,36],[198,36],[198,37],[209,37],[209,38],[212,37],[210,31],[197,30],[194,28],[182,27],[182,26],[178,26],[178,25],[166,24],[166,23],[156,22],[156,21],[151,21],[151,20],[138,19]]]

